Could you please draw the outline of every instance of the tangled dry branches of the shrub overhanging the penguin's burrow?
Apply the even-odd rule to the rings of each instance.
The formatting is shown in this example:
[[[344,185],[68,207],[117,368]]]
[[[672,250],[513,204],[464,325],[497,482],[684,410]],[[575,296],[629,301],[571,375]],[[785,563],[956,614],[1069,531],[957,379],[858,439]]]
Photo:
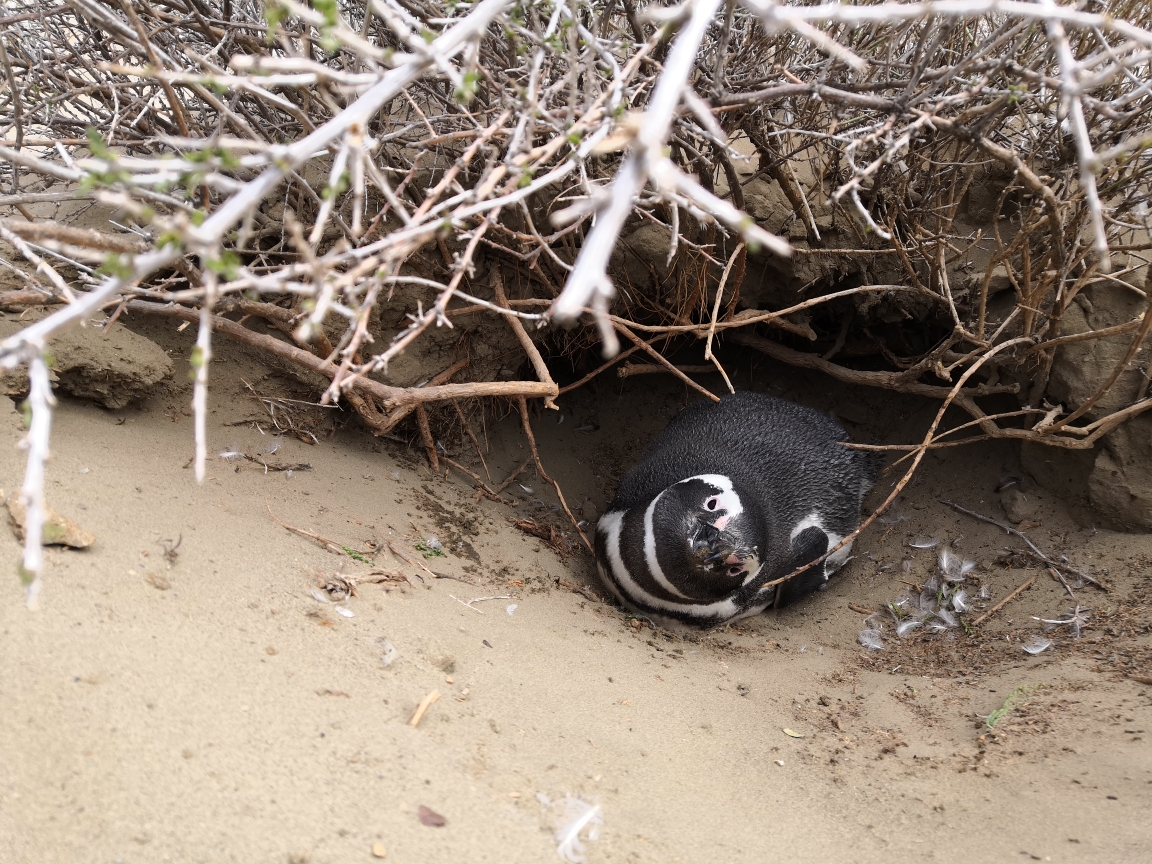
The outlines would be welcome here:
[[[971,415],[918,454],[964,429],[1086,448],[1152,407],[1132,367],[1152,325],[1146,3],[2,9],[0,205],[20,219],[0,238],[26,262],[5,302],[60,305],[0,343],[31,372],[32,600],[45,341],[100,310],[198,323],[198,478],[213,333],[324,374],[378,433],[412,412],[426,430],[430,402],[551,402],[548,340],[602,347],[582,380],[636,351],[690,380],[665,355],[695,340],[723,372],[729,342]],[[60,223],[76,202],[120,232]],[[1138,311],[1069,328],[1100,286]],[[462,359],[386,382],[402,353],[492,316],[510,326],[477,338],[514,339],[537,380]],[[1061,351],[1098,340],[1126,347],[1075,404],[1045,402]],[[988,414],[996,394],[1021,408]]]

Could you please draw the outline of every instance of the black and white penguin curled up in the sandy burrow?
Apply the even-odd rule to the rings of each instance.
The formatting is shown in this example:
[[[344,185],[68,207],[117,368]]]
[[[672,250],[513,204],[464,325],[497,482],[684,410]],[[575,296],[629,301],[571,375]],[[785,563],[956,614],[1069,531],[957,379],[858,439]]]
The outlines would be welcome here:
[[[596,529],[600,578],[664,627],[714,627],[823,589],[880,460],[824,415],[758,393],[685,408],[624,475]],[[780,597],[776,597],[776,592]]]

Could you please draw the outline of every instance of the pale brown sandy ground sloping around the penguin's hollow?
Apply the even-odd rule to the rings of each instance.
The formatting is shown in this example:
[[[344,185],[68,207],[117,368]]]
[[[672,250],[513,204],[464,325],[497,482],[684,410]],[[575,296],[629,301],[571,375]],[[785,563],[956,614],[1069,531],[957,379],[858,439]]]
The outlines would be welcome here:
[[[48,552],[38,613],[14,574],[0,581],[0,861],[327,864],[378,859],[373,844],[394,862],[561,861],[560,808],[539,795],[600,808],[592,863],[1152,861],[1152,687],[1130,677],[1152,675],[1152,539],[1085,528],[1032,493],[1033,540],[1112,590],[1076,591],[1093,608],[1079,642],[1025,654],[1031,616],[1070,600],[1003,558],[1020,540],[938,501],[1005,518],[1008,447],[930,457],[827,592],[676,635],[594,599],[586,555],[561,560],[511,524],[567,530],[531,473],[509,487],[516,508],[476,502],[467,478],[433,477],[417,449],[333,414],[314,422],[336,427],[319,444],[287,438],[264,456],[311,470],[217,457],[197,486],[190,331],[143,329],[177,359],[169,392],[121,411],[62,399],[55,417],[50,503],[97,544]],[[265,395],[306,389],[218,351],[213,452],[255,455],[270,438],[226,425],[266,416],[241,376]],[[605,378],[560,401],[562,422],[536,419],[545,464],[585,514],[689,399],[655,378]],[[834,409],[859,440],[916,439],[932,410],[771,364],[738,382]],[[0,416],[9,493],[20,437],[20,415]],[[499,482],[526,450],[514,418],[490,419],[487,439]],[[454,457],[483,472],[469,450]],[[270,513],[379,550],[374,568]],[[432,535],[446,554],[425,560],[415,547]],[[991,602],[1040,577],[971,634],[870,653],[849,604],[877,609],[897,579],[926,578],[938,550],[907,545],[926,535],[977,561]],[[17,554],[0,533],[0,556]],[[353,617],[312,596],[373,569],[411,584],[361,584]],[[979,718],[1022,687],[990,729]]]

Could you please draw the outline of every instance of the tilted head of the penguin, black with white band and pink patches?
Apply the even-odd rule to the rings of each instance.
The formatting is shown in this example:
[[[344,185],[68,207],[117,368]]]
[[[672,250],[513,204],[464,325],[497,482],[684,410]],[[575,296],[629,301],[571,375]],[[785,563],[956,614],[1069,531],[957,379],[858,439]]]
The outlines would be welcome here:
[[[730,594],[760,569],[756,520],[732,479],[688,477],[666,488],[652,513],[660,569],[685,594]]]

